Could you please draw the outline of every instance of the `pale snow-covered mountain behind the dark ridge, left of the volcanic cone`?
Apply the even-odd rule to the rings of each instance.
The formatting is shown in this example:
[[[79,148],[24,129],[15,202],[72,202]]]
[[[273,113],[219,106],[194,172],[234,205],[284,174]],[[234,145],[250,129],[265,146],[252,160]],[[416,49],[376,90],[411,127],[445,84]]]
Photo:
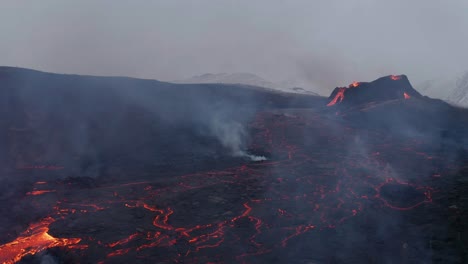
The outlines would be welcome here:
[[[187,79],[176,80],[174,83],[229,83],[229,84],[246,84],[252,86],[260,86],[275,90],[281,90],[290,93],[302,93],[310,95],[318,95],[317,93],[301,88],[301,84],[296,81],[286,80],[281,82],[271,82],[263,79],[252,73],[206,73],[202,75],[192,76]]]

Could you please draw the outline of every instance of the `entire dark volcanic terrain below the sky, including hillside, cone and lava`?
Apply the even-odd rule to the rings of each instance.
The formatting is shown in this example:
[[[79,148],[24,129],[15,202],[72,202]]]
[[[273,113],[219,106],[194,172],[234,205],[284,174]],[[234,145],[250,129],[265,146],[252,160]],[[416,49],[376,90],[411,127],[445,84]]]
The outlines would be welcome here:
[[[2,263],[467,263],[468,110],[0,68]]]

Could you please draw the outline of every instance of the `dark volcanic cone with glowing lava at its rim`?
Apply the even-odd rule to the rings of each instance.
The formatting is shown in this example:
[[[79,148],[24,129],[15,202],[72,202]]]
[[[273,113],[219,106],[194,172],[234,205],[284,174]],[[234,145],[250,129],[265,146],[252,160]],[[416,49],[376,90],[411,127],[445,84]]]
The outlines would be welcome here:
[[[337,87],[328,98],[327,106],[353,106],[370,102],[421,97],[411,86],[406,75],[389,75],[372,82],[353,82],[348,87]]]

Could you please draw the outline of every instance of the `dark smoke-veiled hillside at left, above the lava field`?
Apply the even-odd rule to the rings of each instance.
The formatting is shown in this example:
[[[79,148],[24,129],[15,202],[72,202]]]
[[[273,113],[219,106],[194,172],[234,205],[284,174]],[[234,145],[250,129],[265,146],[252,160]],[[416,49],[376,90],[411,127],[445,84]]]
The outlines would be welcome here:
[[[243,151],[245,124],[258,111],[323,100],[247,85],[0,67],[0,162],[8,168],[54,165],[64,167],[64,175],[88,176],[112,167],[193,170]]]

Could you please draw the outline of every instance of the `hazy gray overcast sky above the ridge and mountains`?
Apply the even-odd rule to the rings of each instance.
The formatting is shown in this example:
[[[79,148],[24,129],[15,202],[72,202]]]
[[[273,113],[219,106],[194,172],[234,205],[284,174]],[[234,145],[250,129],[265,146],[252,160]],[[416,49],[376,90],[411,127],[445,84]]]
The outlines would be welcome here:
[[[327,91],[468,70],[464,0],[0,0],[0,64],[174,80],[207,72]]]

